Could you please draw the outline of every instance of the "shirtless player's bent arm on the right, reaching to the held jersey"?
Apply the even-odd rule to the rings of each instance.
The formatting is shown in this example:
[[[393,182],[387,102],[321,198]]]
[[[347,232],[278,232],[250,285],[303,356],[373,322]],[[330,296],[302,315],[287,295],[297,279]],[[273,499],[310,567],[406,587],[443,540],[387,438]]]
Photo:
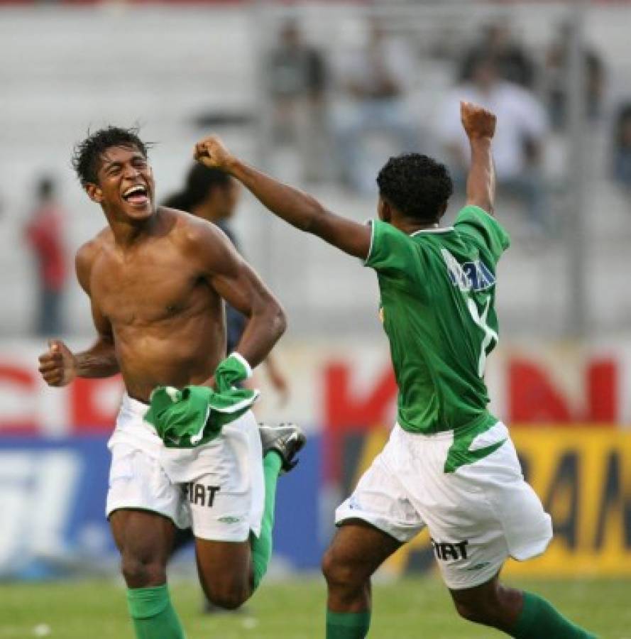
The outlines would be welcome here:
[[[285,312],[220,229],[197,219],[191,224],[191,249],[199,256],[209,285],[246,316],[246,327],[235,349],[254,368],[285,332]]]

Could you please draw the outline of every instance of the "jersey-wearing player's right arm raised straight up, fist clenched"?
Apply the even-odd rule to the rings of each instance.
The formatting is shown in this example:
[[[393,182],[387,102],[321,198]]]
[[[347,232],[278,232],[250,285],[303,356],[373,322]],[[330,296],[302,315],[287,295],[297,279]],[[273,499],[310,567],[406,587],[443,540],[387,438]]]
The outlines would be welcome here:
[[[471,144],[471,168],[466,183],[467,204],[493,214],[495,166],[491,142],[495,135],[495,115],[471,102],[460,103],[462,126]]]

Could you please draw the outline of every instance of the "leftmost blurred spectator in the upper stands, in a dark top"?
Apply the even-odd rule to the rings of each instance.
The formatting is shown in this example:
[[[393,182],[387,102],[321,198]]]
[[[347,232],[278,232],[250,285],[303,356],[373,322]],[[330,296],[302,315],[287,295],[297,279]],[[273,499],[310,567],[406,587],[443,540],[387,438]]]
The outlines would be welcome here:
[[[273,133],[278,144],[297,148],[307,182],[321,181],[327,166],[328,75],[322,53],[305,44],[297,24],[287,21],[268,61]]]

